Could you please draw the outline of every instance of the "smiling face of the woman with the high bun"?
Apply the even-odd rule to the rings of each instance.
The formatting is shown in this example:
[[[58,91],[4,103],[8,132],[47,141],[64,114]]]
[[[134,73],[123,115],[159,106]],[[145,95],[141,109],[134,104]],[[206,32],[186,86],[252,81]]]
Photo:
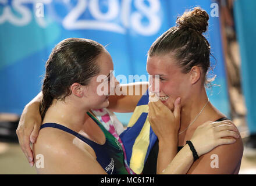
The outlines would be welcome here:
[[[151,75],[150,91],[156,93],[162,103],[168,106],[170,110],[174,109],[174,102],[177,97],[182,99],[182,103],[189,98],[190,73],[182,73],[182,69],[176,65],[175,60],[170,55],[148,56],[147,71]],[[156,75],[159,76],[159,79]],[[158,80],[159,87],[156,83]]]

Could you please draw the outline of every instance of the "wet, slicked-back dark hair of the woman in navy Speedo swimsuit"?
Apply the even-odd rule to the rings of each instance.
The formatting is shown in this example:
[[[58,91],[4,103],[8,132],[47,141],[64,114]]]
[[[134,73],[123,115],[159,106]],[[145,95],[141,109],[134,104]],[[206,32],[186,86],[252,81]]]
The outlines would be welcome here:
[[[52,49],[42,84],[42,118],[54,99],[65,101],[66,96],[72,94],[70,85],[88,85],[99,73],[97,58],[102,51],[105,49],[101,44],[83,38],[67,38]]]

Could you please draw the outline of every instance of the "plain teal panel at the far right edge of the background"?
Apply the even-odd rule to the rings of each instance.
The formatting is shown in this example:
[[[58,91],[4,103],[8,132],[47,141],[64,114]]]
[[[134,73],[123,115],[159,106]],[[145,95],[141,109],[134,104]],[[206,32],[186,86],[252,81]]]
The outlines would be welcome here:
[[[247,125],[256,134],[256,1],[234,1],[234,18],[241,53],[241,81],[247,108]]]

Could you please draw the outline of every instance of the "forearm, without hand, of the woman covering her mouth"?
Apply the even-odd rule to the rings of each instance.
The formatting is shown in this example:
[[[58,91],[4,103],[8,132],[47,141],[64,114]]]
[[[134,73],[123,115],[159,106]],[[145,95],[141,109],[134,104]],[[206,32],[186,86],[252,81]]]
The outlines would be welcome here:
[[[157,174],[162,173],[162,171],[166,168],[166,164],[169,164],[170,162],[172,162],[176,154],[177,154],[177,134],[171,135],[168,141],[159,139]]]

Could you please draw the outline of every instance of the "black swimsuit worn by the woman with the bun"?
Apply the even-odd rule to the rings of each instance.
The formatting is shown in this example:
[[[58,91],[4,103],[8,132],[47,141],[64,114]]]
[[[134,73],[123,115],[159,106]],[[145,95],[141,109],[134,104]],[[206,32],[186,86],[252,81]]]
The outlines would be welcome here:
[[[227,117],[222,117],[216,121],[223,121],[229,120]],[[154,146],[152,147],[148,159],[144,164],[143,174],[157,174],[157,157],[158,157],[158,140],[155,142]],[[178,146],[177,152],[182,149],[183,146]]]

